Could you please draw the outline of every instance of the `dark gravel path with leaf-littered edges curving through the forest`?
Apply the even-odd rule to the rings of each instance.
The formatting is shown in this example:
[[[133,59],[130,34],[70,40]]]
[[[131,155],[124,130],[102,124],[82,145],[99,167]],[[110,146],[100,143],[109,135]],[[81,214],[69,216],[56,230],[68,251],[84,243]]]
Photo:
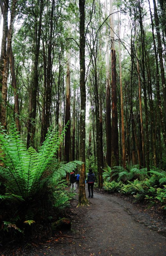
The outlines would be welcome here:
[[[70,231],[0,246],[0,256],[166,256],[166,217],[156,209],[97,190],[89,199],[84,207],[76,207],[78,196],[72,200]]]

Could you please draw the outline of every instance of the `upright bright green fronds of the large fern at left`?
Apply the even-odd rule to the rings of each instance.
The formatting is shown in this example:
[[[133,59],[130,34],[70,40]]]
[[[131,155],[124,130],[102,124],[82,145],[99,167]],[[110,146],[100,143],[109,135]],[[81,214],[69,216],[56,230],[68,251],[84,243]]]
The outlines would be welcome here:
[[[50,128],[38,153],[32,147],[26,150],[15,124],[11,125],[9,134],[2,126],[0,130],[0,147],[5,154],[0,160],[6,166],[0,167],[0,176],[5,180],[6,190],[17,201],[37,196],[48,181],[43,174],[52,164],[65,130],[60,135]]]

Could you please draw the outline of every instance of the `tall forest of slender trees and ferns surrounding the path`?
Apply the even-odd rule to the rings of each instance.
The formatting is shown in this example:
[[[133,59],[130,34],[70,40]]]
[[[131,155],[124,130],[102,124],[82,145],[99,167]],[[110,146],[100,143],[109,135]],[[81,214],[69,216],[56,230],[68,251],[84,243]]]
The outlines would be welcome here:
[[[95,187],[166,210],[166,2],[0,0],[0,234]],[[56,215],[55,214],[55,215]]]

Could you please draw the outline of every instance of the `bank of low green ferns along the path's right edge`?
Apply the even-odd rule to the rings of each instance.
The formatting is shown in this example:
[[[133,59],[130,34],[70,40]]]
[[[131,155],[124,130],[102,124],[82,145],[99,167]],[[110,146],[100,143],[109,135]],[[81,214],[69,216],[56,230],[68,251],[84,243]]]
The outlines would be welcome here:
[[[114,177],[116,180],[110,181]],[[153,167],[150,172],[146,168],[139,169],[132,164],[128,169],[108,166],[103,173],[105,191],[133,195],[135,201],[147,201],[150,204],[158,203],[161,209],[166,210],[166,172]]]

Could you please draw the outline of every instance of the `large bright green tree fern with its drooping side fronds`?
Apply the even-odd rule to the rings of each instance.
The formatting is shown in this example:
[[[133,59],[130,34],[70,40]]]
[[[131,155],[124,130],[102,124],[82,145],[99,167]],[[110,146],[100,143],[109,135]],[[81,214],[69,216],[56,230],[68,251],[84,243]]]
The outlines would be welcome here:
[[[61,182],[61,179],[66,172],[71,172],[77,165],[82,164],[79,161],[59,163],[56,159],[66,128],[67,126],[59,134],[56,128],[50,127],[39,152],[36,152],[32,147],[26,150],[14,123],[9,134],[0,126],[0,149],[3,152],[0,160],[4,163],[4,167],[0,166],[0,178],[6,188],[5,195],[0,195],[0,199],[6,203],[11,202],[8,204],[11,211],[15,207],[15,220],[20,218],[23,222],[32,221],[36,209],[39,209],[40,202],[48,195],[48,191],[59,187],[62,190],[64,182]],[[56,193],[59,197],[52,197],[54,205],[68,201],[69,197],[65,193]]]

